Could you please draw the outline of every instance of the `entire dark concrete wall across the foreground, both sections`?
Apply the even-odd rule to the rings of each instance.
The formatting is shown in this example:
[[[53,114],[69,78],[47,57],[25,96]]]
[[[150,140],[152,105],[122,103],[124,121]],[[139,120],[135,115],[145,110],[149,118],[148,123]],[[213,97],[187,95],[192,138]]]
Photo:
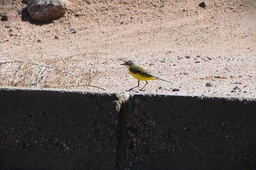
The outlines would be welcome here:
[[[0,89],[0,170],[255,170],[256,99]]]

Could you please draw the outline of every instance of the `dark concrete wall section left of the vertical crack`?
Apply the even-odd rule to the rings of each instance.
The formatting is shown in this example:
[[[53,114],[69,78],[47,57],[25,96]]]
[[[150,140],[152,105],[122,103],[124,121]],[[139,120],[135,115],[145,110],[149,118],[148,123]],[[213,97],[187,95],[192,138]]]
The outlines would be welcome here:
[[[114,169],[115,94],[0,89],[0,169]]]

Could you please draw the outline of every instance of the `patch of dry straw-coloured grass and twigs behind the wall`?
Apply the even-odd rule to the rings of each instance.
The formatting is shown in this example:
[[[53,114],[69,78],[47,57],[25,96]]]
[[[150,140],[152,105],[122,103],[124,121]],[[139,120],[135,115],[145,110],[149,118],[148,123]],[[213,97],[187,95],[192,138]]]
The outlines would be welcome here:
[[[97,69],[98,61],[97,53],[55,57],[40,62],[30,59],[0,61],[0,86],[107,90],[92,84],[97,77],[104,76]]]

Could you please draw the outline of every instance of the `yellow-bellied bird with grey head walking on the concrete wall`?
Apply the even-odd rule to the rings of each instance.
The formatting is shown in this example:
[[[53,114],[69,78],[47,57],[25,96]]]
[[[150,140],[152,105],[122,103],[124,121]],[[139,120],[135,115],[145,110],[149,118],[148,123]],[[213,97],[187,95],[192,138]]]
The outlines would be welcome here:
[[[125,62],[121,65],[125,65],[128,68],[130,75],[132,75],[135,79],[138,80],[138,86],[136,86],[134,88],[137,88],[140,86],[140,81],[146,81],[145,86],[148,84],[148,80],[162,80],[165,82],[169,82],[167,80],[163,80],[163,79],[159,78],[158,76],[153,75],[152,73],[149,73],[146,69],[143,69],[140,66],[137,66],[133,61],[129,60],[128,62]],[[173,84],[173,82],[169,82],[169,83]],[[143,88],[145,86],[143,86]],[[131,91],[134,88],[131,88],[127,91]],[[141,88],[141,90],[143,88]]]

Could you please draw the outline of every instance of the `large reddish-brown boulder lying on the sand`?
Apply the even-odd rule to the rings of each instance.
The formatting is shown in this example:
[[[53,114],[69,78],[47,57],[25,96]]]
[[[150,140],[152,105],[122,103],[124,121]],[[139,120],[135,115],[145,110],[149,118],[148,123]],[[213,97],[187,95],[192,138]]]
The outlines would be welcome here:
[[[26,8],[32,19],[46,22],[62,17],[67,5],[68,0],[29,0]]]

